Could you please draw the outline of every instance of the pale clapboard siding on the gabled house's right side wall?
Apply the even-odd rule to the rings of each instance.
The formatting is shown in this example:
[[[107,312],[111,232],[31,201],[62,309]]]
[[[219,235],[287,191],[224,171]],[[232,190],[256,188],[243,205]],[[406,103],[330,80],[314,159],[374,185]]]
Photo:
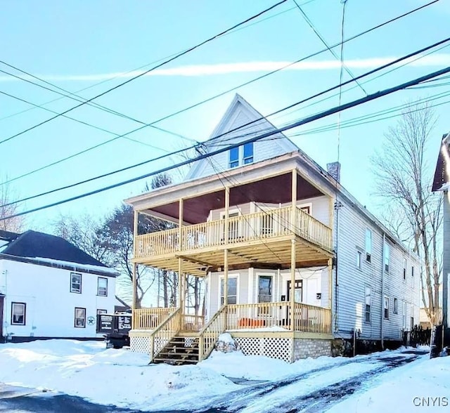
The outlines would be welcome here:
[[[404,254],[398,244],[390,244],[390,272],[384,271],[383,231],[370,223],[354,207],[340,200],[338,211],[338,287],[337,327],[338,334],[352,334],[361,331],[361,339],[380,339],[383,296],[390,299],[389,319],[383,319],[383,338],[398,340],[403,328],[403,301],[406,301],[406,329],[410,327],[413,313],[418,322],[418,263],[415,258]],[[372,230],[372,260],[365,259],[366,228]],[[335,238],[336,240],[336,238]],[[362,253],[361,269],[356,267],[356,251]],[[403,281],[403,258],[407,259],[406,282]],[[416,268],[411,277],[411,265]],[[384,291],[382,294],[382,274]],[[365,320],[365,287],[371,287],[371,322]],[[394,298],[398,300],[398,313],[394,314]],[[411,310],[413,306],[413,310]]]

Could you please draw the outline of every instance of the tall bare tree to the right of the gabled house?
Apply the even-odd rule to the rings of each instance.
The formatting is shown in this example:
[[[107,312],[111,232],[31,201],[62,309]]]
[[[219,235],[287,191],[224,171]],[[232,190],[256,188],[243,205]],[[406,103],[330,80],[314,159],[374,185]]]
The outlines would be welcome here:
[[[442,197],[431,192],[432,169],[426,161],[434,126],[435,114],[428,105],[411,105],[385,133],[383,150],[373,157],[373,166],[376,195],[387,200],[391,211],[401,214],[391,221],[395,223],[392,229],[413,242],[414,251],[423,261],[422,300],[430,322],[437,325],[441,321],[437,240]]]

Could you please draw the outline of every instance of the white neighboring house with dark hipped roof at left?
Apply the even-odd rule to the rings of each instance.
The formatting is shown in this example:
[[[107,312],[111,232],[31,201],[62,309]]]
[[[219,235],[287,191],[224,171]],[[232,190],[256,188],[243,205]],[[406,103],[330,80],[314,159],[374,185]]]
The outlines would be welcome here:
[[[117,273],[43,232],[0,231],[0,341],[93,339],[115,309]]]

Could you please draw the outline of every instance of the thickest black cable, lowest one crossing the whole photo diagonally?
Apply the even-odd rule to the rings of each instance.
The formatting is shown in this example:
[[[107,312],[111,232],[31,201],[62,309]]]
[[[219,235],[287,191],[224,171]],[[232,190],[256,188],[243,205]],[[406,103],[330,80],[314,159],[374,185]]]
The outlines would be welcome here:
[[[372,93],[371,95],[364,96],[363,98],[359,98],[359,99],[353,100],[352,102],[345,103],[344,105],[332,107],[332,108],[330,108],[328,110],[320,112],[319,114],[314,114],[314,115],[306,117],[304,119],[300,119],[297,122],[293,122],[293,123],[291,123],[289,125],[283,126],[282,128],[278,128],[275,131],[269,131],[269,132],[263,133],[260,136],[255,136],[253,138],[249,138],[249,139],[243,140],[243,141],[241,141],[239,143],[231,144],[228,147],[225,147],[225,148],[222,148],[222,149],[219,149],[219,150],[215,150],[213,152],[209,152],[209,153],[207,153],[205,155],[199,155],[198,157],[195,157],[193,159],[186,159],[185,161],[179,162],[178,164],[174,164],[174,165],[171,165],[171,166],[165,166],[164,168],[158,169],[156,171],[145,173],[145,174],[143,174],[141,176],[136,176],[135,178],[128,179],[127,181],[122,181],[120,183],[115,183],[113,185],[108,185],[106,187],[103,187],[103,188],[100,188],[100,189],[97,189],[97,190],[93,190],[93,191],[90,191],[90,192],[85,192],[84,194],[77,195],[75,197],[70,197],[68,199],[63,199],[62,201],[53,202],[51,204],[47,204],[47,205],[44,205],[44,206],[39,206],[37,208],[30,209],[28,211],[23,211],[23,212],[20,212],[18,214],[13,214],[11,216],[6,216],[6,217],[3,217],[3,218],[0,218],[0,221],[4,221],[6,219],[15,218],[15,216],[22,216],[22,215],[25,215],[25,214],[31,214],[32,212],[41,211],[42,209],[48,209],[48,208],[51,208],[52,206],[65,204],[67,202],[72,202],[72,201],[75,201],[77,199],[82,199],[84,197],[88,197],[90,195],[96,195],[96,194],[98,194],[100,192],[105,192],[106,190],[110,190],[110,189],[113,189],[113,188],[118,188],[118,187],[126,185],[128,183],[133,183],[133,182],[139,181],[139,180],[141,180],[143,178],[148,178],[150,176],[155,176],[155,175],[158,175],[160,173],[164,173],[164,172],[170,171],[172,169],[176,169],[176,168],[179,168],[181,166],[184,166],[184,165],[187,165],[187,164],[191,164],[192,162],[200,161],[200,160],[205,159],[207,157],[212,157],[214,155],[219,155],[220,153],[226,152],[227,150],[230,150],[233,147],[239,147],[240,145],[245,145],[246,143],[256,142],[257,140],[261,140],[261,139],[267,138],[267,137],[272,136],[272,135],[274,135],[276,133],[282,133],[283,131],[288,131],[289,129],[296,128],[297,126],[302,126],[304,124],[308,124],[308,123],[314,122],[314,121],[316,121],[318,119],[322,119],[323,117],[328,117],[331,114],[335,114],[335,113],[341,112],[343,110],[347,110],[347,109],[350,109],[352,107],[355,107],[355,106],[358,106],[358,105],[362,105],[363,103],[370,102],[371,100],[382,98],[383,96],[387,96],[387,95],[390,95],[391,93],[395,93],[397,91],[404,90],[406,88],[409,88],[410,86],[414,86],[414,85],[420,84],[421,82],[429,80],[429,79],[434,79],[435,77],[439,77],[442,74],[446,74],[446,73],[450,73],[450,66],[449,67],[445,67],[444,69],[441,69],[441,70],[437,70],[436,72],[425,74],[424,76],[418,77],[418,78],[413,79],[411,81],[407,81],[407,82],[405,82],[403,84],[399,84],[397,86],[393,86],[393,87],[391,87],[389,89],[384,89],[383,91],[378,91],[376,93]]]

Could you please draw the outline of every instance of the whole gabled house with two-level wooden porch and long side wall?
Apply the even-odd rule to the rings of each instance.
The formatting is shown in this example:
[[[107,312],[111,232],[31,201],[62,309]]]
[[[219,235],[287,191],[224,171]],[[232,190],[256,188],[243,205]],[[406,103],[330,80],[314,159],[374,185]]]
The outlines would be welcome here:
[[[236,95],[203,151],[274,129]],[[330,355],[343,340],[399,345],[418,323],[418,259],[342,187],[340,165],[329,166],[276,133],[127,199],[134,265],[174,271],[180,285],[178,308],[134,308],[131,350],[197,362],[223,332],[245,354],[290,362]],[[140,214],[176,228],[138,233]],[[186,274],[206,279],[204,316],[186,314]]]

